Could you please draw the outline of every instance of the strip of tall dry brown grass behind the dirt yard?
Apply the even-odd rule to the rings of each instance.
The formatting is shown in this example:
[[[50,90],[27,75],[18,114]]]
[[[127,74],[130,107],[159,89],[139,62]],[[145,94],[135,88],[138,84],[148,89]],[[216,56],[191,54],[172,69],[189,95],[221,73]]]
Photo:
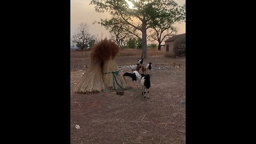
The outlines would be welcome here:
[[[123,51],[119,51],[116,57],[125,57],[125,56],[141,56],[142,50],[140,49],[124,49]],[[147,49],[147,55],[155,56],[155,55],[164,55],[165,49],[161,49],[161,51],[152,50],[151,48]],[[70,51],[70,58],[88,58],[91,55],[91,51]]]

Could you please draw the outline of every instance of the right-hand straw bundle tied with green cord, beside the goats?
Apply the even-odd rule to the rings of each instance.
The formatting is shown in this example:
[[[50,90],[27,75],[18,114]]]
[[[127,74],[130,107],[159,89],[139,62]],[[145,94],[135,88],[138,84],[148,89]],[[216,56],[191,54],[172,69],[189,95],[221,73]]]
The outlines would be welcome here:
[[[105,87],[110,90],[116,90],[118,88],[132,89],[134,86],[131,79],[123,76],[123,72],[118,68],[114,59],[120,47],[106,38],[95,47],[100,47],[97,50],[99,50],[98,53],[103,60],[102,74]]]

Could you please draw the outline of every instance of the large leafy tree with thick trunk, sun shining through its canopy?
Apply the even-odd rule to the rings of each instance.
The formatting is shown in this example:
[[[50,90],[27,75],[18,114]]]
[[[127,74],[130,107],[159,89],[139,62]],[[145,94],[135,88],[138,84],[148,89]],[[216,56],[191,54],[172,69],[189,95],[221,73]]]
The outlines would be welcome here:
[[[173,0],[130,0],[134,7],[127,3],[127,0],[92,0],[90,4],[95,5],[97,12],[109,12],[118,21],[122,23],[123,28],[129,33],[139,30],[142,39],[141,58],[147,58],[147,29],[153,27],[156,23],[156,17],[161,13],[169,13],[162,15],[161,19],[166,17],[181,17],[179,11],[183,11],[181,7]],[[161,7],[162,6],[162,7]],[[129,8],[130,7],[130,8]],[[164,8],[163,8],[164,7]],[[106,19],[103,22],[108,22]],[[138,35],[135,35],[138,37]]]

